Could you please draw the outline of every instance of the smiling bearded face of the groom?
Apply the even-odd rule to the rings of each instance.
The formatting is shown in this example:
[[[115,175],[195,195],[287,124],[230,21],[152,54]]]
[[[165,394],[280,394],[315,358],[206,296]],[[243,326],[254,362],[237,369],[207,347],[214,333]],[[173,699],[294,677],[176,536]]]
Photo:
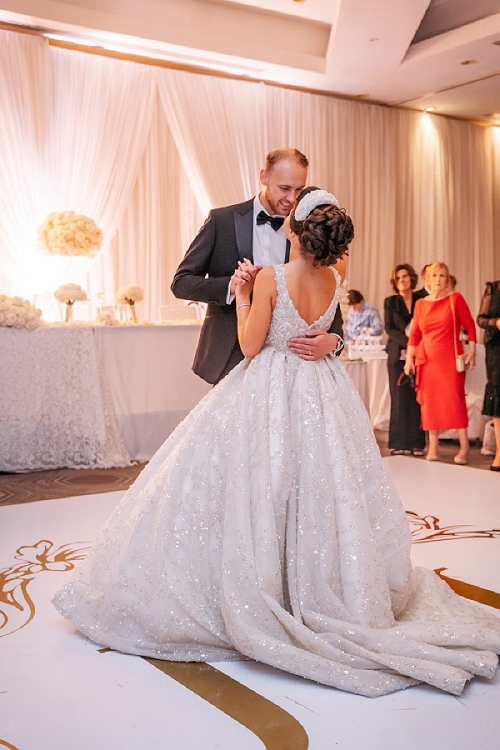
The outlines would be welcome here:
[[[260,181],[264,186],[261,193],[264,208],[270,214],[288,216],[306,180],[307,168],[294,161],[279,161],[271,169],[263,169]]]

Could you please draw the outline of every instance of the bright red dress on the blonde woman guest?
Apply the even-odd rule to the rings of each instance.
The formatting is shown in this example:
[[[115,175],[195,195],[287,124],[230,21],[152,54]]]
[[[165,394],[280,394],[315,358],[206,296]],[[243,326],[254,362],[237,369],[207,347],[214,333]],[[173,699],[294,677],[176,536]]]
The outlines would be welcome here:
[[[455,307],[455,330],[451,297]],[[469,424],[465,372],[457,372],[453,344],[455,337],[457,352],[462,354],[460,328],[465,328],[469,341],[476,340],[472,315],[458,292],[434,302],[417,301],[408,345],[416,347],[415,381],[424,430],[457,430]]]

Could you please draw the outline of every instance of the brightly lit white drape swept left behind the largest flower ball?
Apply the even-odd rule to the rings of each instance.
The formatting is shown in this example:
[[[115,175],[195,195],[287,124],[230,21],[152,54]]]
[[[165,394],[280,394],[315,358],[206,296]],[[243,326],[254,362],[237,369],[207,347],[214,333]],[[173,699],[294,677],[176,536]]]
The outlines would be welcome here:
[[[156,88],[143,66],[0,35],[0,264],[19,293],[43,295],[95,259],[43,255],[37,227],[52,211],[91,216],[106,252],[137,179]]]

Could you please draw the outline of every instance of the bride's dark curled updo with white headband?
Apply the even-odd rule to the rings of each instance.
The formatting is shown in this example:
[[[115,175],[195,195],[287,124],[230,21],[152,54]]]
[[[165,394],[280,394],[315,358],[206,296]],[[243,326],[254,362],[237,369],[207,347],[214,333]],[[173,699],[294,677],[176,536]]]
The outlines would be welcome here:
[[[312,195],[315,191],[317,196]],[[316,205],[323,199],[325,203]],[[333,266],[347,254],[347,246],[354,238],[354,227],[345,208],[340,208],[335,196],[317,187],[307,187],[300,193],[290,214],[290,229],[298,236],[302,251],[312,255],[314,264],[320,266]]]

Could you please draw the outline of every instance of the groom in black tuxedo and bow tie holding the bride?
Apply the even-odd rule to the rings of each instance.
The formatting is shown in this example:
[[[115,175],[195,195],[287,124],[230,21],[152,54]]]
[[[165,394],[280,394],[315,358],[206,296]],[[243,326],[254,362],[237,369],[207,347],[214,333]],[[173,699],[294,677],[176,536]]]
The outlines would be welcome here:
[[[249,280],[264,266],[289,260],[290,243],[282,225],[305,187],[308,166],[297,149],[271,151],[260,173],[263,190],[244,203],[210,211],[176,271],[171,286],[174,295],[208,303],[193,362],[194,372],[208,383],[218,383],[243,359],[235,279]],[[245,258],[250,263],[240,268],[238,261]],[[342,336],[342,315],[337,308],[329,331],[311,331],[307,338],[291,339],[289,347],[309,360],[321,359],[341,350]]]

